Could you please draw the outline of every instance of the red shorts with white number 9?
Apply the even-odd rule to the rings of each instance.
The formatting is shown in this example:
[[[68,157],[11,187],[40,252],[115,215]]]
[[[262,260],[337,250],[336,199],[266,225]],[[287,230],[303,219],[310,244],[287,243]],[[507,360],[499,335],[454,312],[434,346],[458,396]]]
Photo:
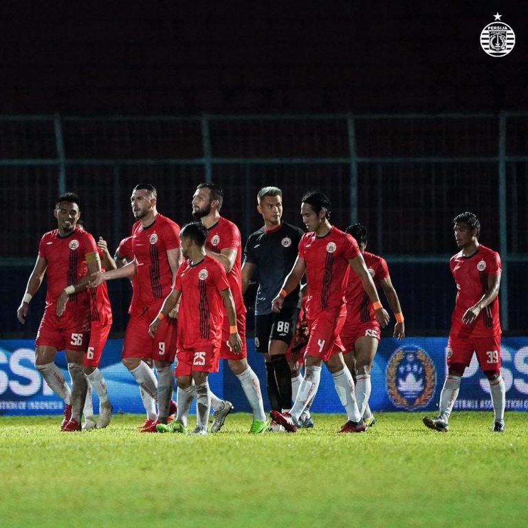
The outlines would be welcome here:
[[[148,327],[157,316],[163,301],[156,305],[135,309],[130,316],[123,341],[122,358],[151,358],[172,363],[176,355],[177,320],[166,317],[159,325],[154,338]]]

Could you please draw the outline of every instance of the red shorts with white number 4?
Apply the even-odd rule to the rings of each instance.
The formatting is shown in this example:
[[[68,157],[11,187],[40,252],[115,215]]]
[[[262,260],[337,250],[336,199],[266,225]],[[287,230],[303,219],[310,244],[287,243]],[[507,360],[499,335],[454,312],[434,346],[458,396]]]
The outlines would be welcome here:
[[[345,316],[330,311],[322,311],[315,319],[308,320],[310,337],[306,345],[307,355],[328,361],[334,354],[344,352],[339,333]]]

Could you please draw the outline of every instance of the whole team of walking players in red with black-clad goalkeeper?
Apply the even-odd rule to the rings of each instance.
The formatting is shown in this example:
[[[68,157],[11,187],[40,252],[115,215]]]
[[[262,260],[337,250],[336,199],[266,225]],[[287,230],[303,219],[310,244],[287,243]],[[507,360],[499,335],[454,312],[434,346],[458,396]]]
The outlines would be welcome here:
[[[257,195],[264,225],[242,250],[239,229],[220,214],[222,204],[221,187],[199,184],[191,202],[195,221],[180,229],[157,211],[156,189],[137,184],[131,195],[131,236],[121,241],[112,258],[106,241],[96,243],[83,229],[78,196],[68,192],[58,197],[58,228],[41,238],[17,317],[25,322],[32,296],[47,276],[35,365],[65,402],[61,430],[104,428],[111,421],[113,408],[98,365],[112,322],[106,283],[118,278],[129,279],[133,289],[122,363],[140,388],[146,410],[141,432],[208,434],[211,409],[210,432],[218,432],[232,410],[230,401],[214,395],[208,384],[220,360],[227,360],[248,399],[250,434],[313,427],[310,408],[323,363],[347,414],[339,432],[362,432],[375,423],[369,408],[371,369],[381,329],[390,320],[377,286],[395,316],[393,336],[398,340],[405,337],[405,323],[386,261],[366,251],[364,225],[351,225],[344,232],[336,228],[330,221],[329,199],[314,191],[301,200],[307,229],[303,232],[282,221],[283,192],[268,186]],[[448,342],[449,370],[439,416],[424,417],[423,423],[448,430],[461,377],[476,353],[489,379],[493,430],[502,432],[500,257],[478,242],[480,223],[474,214],[459,214],[453,225],[460,251],[450,260],[458,293]],[[255,272],[255,346],[265,361],[270,418],[259,378],[248,363],[245,340],[243,294]],[[71,388],[54,362],[61,350]],[[100,401],[98,419],[92,389]],[[197,425],[188,432],[193,399]]]

